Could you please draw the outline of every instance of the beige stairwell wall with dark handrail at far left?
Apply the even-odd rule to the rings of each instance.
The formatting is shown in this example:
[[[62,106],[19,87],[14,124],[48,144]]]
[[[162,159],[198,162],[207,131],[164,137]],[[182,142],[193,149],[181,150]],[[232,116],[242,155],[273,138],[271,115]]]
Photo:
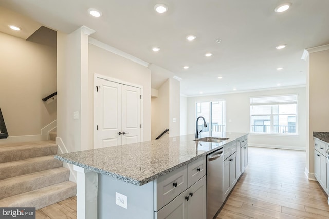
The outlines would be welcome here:
[[[40,135],[56,120],[56,48],[0,33],[0,108],[9,136]],[[5,141],[5,140],[0,140]]]

